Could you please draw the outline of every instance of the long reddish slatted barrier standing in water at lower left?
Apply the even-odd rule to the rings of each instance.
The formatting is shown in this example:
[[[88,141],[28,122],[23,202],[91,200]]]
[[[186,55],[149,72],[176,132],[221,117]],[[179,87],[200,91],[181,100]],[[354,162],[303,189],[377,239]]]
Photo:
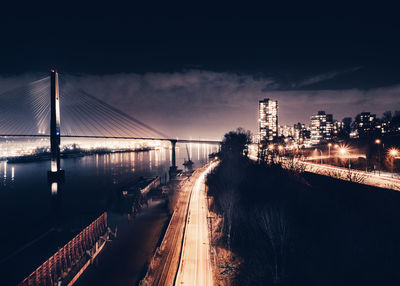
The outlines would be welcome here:
[[[65,277],[71,268],[81,260],[86,250],[93,248],[96,241],[106,230],[107,212],[104,212],[18,285],[54,285],[59,278]]]

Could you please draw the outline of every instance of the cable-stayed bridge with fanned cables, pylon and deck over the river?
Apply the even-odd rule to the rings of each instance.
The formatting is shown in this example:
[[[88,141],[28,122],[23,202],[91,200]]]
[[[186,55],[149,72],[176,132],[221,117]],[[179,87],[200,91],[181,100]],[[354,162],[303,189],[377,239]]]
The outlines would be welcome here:
[[[158,140],[219,144],[219,141],[174,139],[76,88],[55,70],[50,76],[0,94],[0,137],[50,138],[50,175],[60,173],[61,138]]]

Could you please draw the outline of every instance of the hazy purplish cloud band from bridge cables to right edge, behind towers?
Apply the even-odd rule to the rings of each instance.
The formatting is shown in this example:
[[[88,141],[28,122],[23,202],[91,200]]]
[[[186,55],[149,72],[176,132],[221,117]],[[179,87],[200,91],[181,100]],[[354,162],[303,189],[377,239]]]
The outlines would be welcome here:
[[[326,75],[316,76],[309,82],[325,78]],[[310,115],[318,110],[342,119],[361,111],[381,114],[387,109],[400,109],[399,85],[370,90],[280,91],[274,79],[199,70],[88,75],[71,81],[179,137],[219,138],[238,126],[255,131],[258,100],[264,97],[278,99],[281,124],[308,123]]]

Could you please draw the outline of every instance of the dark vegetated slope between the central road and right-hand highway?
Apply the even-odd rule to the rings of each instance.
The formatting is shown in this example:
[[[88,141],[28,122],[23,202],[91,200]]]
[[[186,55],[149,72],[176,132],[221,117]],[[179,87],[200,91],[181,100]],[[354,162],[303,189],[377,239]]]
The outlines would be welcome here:
[[[398,192],[252,161],[249,138],[227,133],[207,178],[216,244],[241,261],[217,265],[225,284],[400,285]]]

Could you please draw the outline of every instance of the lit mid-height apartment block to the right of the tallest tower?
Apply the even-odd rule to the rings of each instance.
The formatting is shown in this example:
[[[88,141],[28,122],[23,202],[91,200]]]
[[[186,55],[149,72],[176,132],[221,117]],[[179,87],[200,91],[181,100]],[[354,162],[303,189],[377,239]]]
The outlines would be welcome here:
[[[311,144],[318,145],[332,139],[333,116],[325,111],[311,116]]]

